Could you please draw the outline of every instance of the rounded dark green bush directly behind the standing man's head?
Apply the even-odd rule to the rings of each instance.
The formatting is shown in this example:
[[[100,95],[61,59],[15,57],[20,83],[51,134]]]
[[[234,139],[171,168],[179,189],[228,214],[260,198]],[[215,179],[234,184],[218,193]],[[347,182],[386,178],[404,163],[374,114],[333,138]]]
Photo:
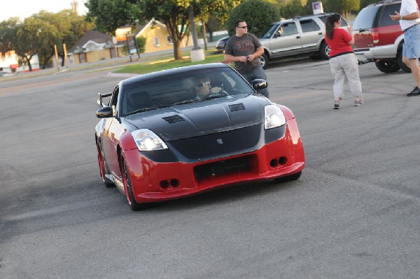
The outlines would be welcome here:
[[[245,20],[248,25],[248,31],[260,36],[272,22],[280,19],[279,7],[264,0],[246,0],[239,4],[230,13],[228,19],[228,31],[232,36],[235,34],[235,20]]]

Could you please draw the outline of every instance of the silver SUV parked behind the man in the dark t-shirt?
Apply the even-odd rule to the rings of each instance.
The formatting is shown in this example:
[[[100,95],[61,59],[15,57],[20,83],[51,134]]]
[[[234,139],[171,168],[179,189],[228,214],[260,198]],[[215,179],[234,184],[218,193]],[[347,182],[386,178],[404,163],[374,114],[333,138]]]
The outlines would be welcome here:
[[[264,47],[260,57],[262,68],[269,61],[280,57],[309,55],[314,59],[328,59],[330,48],[325,43],[325,19],[332,13],[293,17],[289,20],[274,22],[262,32],[259,39]],[[348,27],[342,17],[342,28]]]

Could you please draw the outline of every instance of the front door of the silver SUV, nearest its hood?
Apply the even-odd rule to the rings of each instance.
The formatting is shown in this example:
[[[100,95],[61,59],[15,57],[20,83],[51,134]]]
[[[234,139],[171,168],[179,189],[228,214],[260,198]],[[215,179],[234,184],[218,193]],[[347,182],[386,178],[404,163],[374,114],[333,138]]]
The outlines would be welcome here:
[[[269,46],[274,58],[300,53],[302,43],[296,23],[283,22],[279,24],[272,38],[269,39]]]

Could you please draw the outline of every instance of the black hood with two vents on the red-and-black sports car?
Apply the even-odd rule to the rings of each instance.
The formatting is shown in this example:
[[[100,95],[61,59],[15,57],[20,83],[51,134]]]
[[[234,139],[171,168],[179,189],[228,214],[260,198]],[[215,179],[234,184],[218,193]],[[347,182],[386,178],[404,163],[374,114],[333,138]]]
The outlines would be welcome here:
[[[129,115],[125,120],[139,129],[151,129],[164,141],[175,141],[260,124],[267,104],[258,95],[228,96]]]

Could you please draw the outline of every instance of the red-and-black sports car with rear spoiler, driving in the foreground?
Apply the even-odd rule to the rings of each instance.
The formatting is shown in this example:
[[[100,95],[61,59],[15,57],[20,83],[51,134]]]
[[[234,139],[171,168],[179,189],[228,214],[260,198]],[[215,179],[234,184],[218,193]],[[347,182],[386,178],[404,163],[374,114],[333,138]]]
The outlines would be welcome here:
[[[220,91],[197,98],[199,76]],[[258,94],[265,80],[252,84],[216,63],[148,73],[99,93],[95,141],[106,187],[116,185],[139,210],[217,187],[300,178],[295,116]]]

